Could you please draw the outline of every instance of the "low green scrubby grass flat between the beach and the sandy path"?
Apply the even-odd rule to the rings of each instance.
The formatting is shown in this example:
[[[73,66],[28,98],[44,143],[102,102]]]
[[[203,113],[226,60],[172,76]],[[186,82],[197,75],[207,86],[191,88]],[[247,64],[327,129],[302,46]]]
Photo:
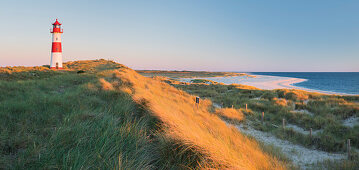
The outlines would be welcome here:
[[[346,127],[342,121],[359,116],[359,96],[338,96],[311,93],[302,90],[262,90],[245,85],[223,85],[218,83],[203,84],[178,83],[167,80],[167,83],[190,92],[202,98],[211,99],[225,108],[243,110],[246,119],[258,122],[254,128],[270,132],[279,138],[301,144],[308,148],[317,148],[327,152],[346,152],[345,142],[351,139],[353,147],[359,148],[359,126]],[[309,114],[297,112],[307,110]],[[261,121],[265,112],[265,124]],[[310,139],[293,129],[281,128],[282,119],[287,123],[299,126],[305,130],[321,130]],[[273,126],[277,125],[277,127]],[[358,158],[353,158],[356,167]],[[349,168],[350,169],[350,168]]]

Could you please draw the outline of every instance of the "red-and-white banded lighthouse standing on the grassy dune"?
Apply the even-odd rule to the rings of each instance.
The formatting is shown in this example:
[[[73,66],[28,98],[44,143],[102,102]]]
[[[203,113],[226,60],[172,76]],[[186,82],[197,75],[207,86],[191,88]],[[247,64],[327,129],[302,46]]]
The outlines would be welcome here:
[[[50,30],[52,34],[52,48],[51,48],[51,62],[50,69],[62,69],[62,48],[61,48],[61,23],[56,21],[52,24],[53,28]]]

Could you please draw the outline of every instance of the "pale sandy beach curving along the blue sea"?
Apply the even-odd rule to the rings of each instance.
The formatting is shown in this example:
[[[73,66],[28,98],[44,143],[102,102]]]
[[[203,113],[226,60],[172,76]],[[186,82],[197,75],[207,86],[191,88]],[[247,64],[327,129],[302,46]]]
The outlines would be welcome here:
[[[243,77],[243,76],[231,76],[231,77],[200,77],[199,79],[207,79],[212,80],[218,83],[224,84],[243,84],[248,86],[254,86],[264,90],[274,90],[274,89],[297,89],[297,90],[304,90],[308,92],[315,92],[315,93],[322,93],[322,94],[329,94],[329,95],[357,95],[357,94],[346,94],[340,92],[331,92],[331,91],[324,91],[324,90],[315,90],[309,89],[304,87],[295,86],[297,83],[301,83],[304,81],[308,81],[307,79],[301,78],[293,78],[293,77],[280,77],[280,76],[268,76],[268,75],[253,75],[249,74],[252,77]],[[193,78],[181,78],[180,81],[189,82],[190,80],[197,79]]]

